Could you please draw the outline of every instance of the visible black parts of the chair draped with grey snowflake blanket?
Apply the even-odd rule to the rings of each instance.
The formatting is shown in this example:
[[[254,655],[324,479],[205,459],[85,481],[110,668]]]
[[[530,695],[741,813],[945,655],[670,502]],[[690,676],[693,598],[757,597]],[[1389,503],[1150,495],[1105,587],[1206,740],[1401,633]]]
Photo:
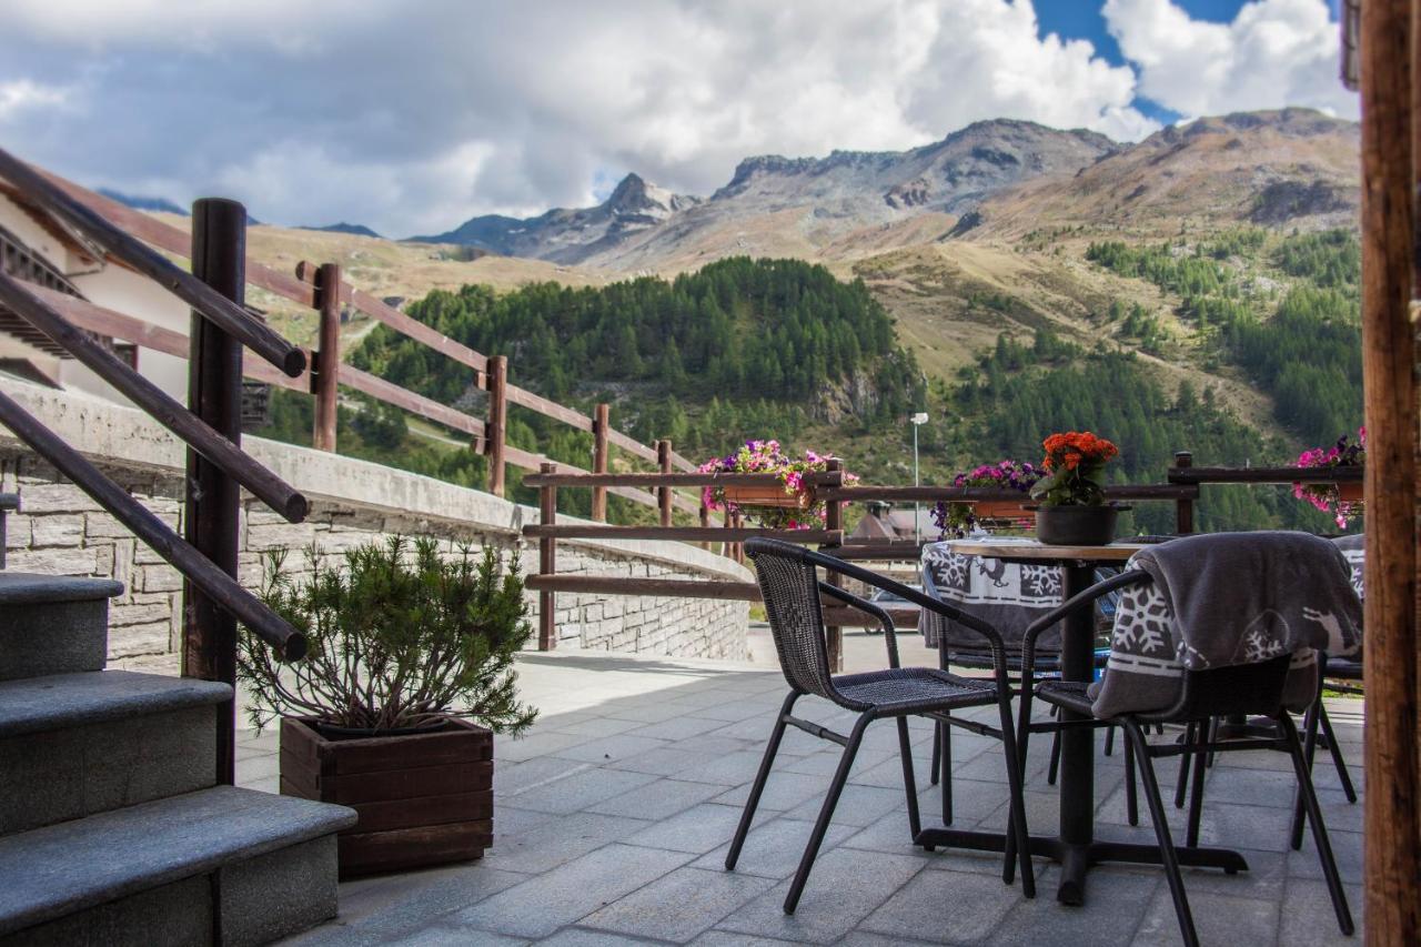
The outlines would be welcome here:
[[[1090,607],[1091,601],[1107,592],[1125,587],[1128,584],[1151,582],[1150,574],[1140,570],[1124,572],[1113,579],[1100,582],[1054,611],[1043,616],[1027,628],[1022,647],[1022,670],[1030,675],[1034,664],[1036,638],[1052,624],[1060,621],[1067,614]],[[1110,719],[1096,719],[1097,727],[1118,724],[1128,738],[1127,747],[1134,749],[1134,758],[1140,768],[1144,783],[1145,802],[1150,808],[1150,819],[1154,823],[1155,839],[1160,843],[1160,857],[1164,865],[1165,877],[1169,883],[1169,894],[1174,899],[1175,914],[1179,920],[1179,933],[1185,944],[1196,946],[1198,934],[1194,929],[1194,916],[1189,911],[1189,900],[1184,890],[1184,876],[1179,870],[1179,859],[1175,853],[1174,840],[1169,835],[1169,823],[1165,818],[1164,802],[1160,796],[1160,783],[1155,778],[1154,759],[1161,756],[1194,755],[1195,756],[1195,801],[1202,798],[1202,756],[1212,752],[1236,752],[1249,749],[1275,749],[1289,754],[1293,761],[1293,771],[1297,775],[1297,788],[1302,805],[1307,813],[1307,822],[1313,830],[1313,842],[1317,856],[1322,860],[1323,877],[1331,894],[1333,910],[1337,914],[1337,926],[1344,934],[1351,934],[1354,924],[1347,906],[1347,894],[1343,890],[1341,879],[1337,873],[1337,862],[1333,857],[1331,843],[1327,839],[1327,829],[1323,825],[1322,809],[1317,805],[1317,793],[1313,789],[1312,771],[1303,754],[1302,741],[1292,715],[1283,705],[1283,684],[1287,678],[1290,654],[1255,664],[1239,664],[1208,671],[1184,671],[1184,681],[1179,698],[1174,707],[1160,712],[1125,714]],[[1320,685],[1320,681],[1319,681]],[[1022,694],[1020,715],[1017,718],[1017,744],[1025,754],[1026,741],[1032,732],[1057,729],[1057,724],[1032,722],[1032,691]],[[1034,697],[1071,711],[1073,714],[1091,717],[1091,698],[1086,692],[1084,684],[1047,680],[1034,688]],[[1212,741],[1209,722],[1228,715],[1258,715],[1268,717],[1276,727],[1273,737],[1253,737],[1229,739],[1223,742]],[[1187,738],[1178,744],[1150,744],[1145,738],[1144,725],[1150,724],[1185,724]],[[1189,810],[1187,828],[1187,847],[1198,845],[1199,835],[1199,806]],[[1007,866],[1013,857],[1012,843],[1007,839]]]

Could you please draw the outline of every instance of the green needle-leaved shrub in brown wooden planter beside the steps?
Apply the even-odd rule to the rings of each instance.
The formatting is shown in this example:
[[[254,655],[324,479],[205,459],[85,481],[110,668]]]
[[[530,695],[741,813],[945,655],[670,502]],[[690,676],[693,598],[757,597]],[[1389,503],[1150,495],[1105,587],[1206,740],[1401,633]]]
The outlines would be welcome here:
[[[307,636],[280,664],[243,628],[237,678],[260,731],[281,719],[281,793],[351,806],[341,877],[483,855],[493,830],[493,734],[526,729],[513,657],[527,641],[517,556],[441,555],[399,536],[307,553],[297,579],[270,553],[261,599]]]

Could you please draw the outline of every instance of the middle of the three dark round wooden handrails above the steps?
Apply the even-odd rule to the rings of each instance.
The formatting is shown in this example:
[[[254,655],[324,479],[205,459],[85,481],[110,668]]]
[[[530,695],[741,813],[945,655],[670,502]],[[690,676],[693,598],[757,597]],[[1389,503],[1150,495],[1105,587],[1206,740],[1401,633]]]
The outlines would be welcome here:
[[[243,454],[237,445],[207,427],[162,388],[119,361],[118,355],[92,336],[65,321],[38,296],[31,294],[27,283],[0,273],[0,301],[288,522],[300,523],[306,519],[310,503],[300,492],[250,455]]]

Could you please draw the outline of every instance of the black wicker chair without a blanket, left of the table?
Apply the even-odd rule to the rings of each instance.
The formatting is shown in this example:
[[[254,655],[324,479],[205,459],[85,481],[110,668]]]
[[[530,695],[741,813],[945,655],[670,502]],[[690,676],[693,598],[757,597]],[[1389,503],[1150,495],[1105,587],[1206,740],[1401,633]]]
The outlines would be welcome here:
[[[786,695],[774,719],[774,728],[770,731],[764,758],[760,761],[759,772],[750,788],[750,796],[745,803],[745,812],[740,815],[740,825],[735,830],[735,839],[730,842],[730,850],[725,859],[726,869],[735,869],[735,863],[740,857],[740,849],[755,819],[755,809],[760,802],[760,795],[764,792],[764,783],[774,765],[774,755],[779,752],[786,727],[796,727],[820,739],[840,744],[844,747],[844,754],[830,782],[828,795],[820,808],[818,819],[810,832],[809,843],[804,846],[799,870],[790,883],[789,894],[784,899],[784,913],[793,914],[799,906],[804,882],[814,866],[814,857],[818,855],[824,833],[828,830],[838,796],[848,781],[848,772],[854,765],[854,756],[858,754],[864,731],[875,719],[892,719],[898,725],[898,748],[902,755],[902,778],[908,802],[908,828],[912,838],[917,839],[922,826],[918,818],[918,792],[912,774],[912,749],[908,741],[907,718],[909,715],[919,715],[931,717],[939,722],[946,721],[952,725],[966,727],[1002,741],[1003,762],[1010,786],[1012,815],[1007,832],[1016,838],[1016,847],[1020,850],[1023,890],[1027,897],[1033,897],[1036,886],[1030,857],[1026,853],[1026,809],[1023,805],[1022,778],[1013,734],[1012,691],[1006,673],[1005,647],[996,630],[983,621],[958,613],[956,609],[936,601],[921,592],[823,553],[770,539],[750,539],[745,545],[745,552],[755,562],[755,572],[764,597],[764,610],[769,616],[770,631],[774,636],[774,647],[779,651],[780,670],[790,685],[790,692]],[[992,680],[973,680],[931,667],[899,667],[898,644],[888,613],[858,596],[831,586],[827,582],[820,582],[820,569],[887,589],[917,603],[919,607],[932,609],[953,621],[973,628],[988,640],[995,654],[995,677]],[[840,675],[830,673],[820,596],[848,604],[878,620],[882,626],[884,641],[888,650],[887,670]],[[853,731],[845,737],[818,724],[794,717],[790,711],[793,711],[796,701],[804,695],[821,697],[844,710],[857,712],[858,719]],[[971,707],[990,707],[992,704],[996,704],[1000,712],[1000,728],[951,717],[952,711]],[[1007,846],[1003,840],[1003,847],[1012,846]],[[1003,869],[1003,880],[1007,883],[1012,880],[1013,867],[1007,866]]]

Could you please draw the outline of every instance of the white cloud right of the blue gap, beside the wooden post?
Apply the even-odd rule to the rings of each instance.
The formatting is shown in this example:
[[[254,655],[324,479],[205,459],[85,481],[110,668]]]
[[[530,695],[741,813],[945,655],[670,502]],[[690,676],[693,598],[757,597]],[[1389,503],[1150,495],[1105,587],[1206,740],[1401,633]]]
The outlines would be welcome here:
[[[1326,0],[1255,0],[1232,23],[1171,0],[1106,0],[1106,23],[1140,70],[1141,95],[1187,117],[1310,105],[1356,118],[1339,75],[1340,27]]]

